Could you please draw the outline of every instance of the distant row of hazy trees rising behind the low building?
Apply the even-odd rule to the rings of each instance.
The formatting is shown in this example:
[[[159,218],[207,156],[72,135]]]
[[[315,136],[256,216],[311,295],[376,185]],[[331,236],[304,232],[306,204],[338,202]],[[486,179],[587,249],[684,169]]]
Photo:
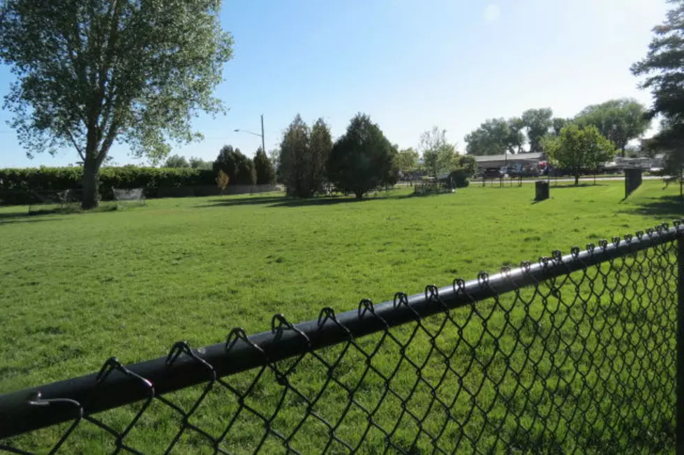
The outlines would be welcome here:
[[[512,119],[488,119],[466,135],[466,151],[471,155],[519,154],[544,151],[544,138],[560,137],[569,124],[581,128],[594,126],[625,153],[627,144],[646,133],[650,119],[646,107],[636,100],[623,98],[585,107],[571,119],[553,117],[550,108],[530,109]]]

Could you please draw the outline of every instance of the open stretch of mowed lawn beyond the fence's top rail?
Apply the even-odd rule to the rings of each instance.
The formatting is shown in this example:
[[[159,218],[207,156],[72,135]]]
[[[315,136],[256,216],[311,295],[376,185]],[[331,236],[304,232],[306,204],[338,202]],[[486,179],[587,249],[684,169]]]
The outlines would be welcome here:
[[[281,195],[149,200],[146,207],[26,216],[0,209],[0,393],[164,356],[175,341],[265,331],[504,265],[537,260],[684,214],[676,185],[644,181],[472,186],[357,202]],[[86,449],[83,449],[87,452]],[[239,451],[238,451],[239,452]],[[304,451],[306,452],[306,450]]]

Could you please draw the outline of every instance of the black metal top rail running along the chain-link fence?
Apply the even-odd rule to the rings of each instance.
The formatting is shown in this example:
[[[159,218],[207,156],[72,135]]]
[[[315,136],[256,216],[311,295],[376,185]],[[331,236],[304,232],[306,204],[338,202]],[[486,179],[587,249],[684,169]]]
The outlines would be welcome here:
[[[241,328],[230,331],[225,343],[191,349],[176,343],[167,357],[123,366],[108,359],[97,374],[0,395],[0,438],[26,433],[83,415],[117,408],[211,378],[232,375],[275,361],[302,355],[329,345],[358,338],[468,306],[551,278],[666,244],[684,235],[684,221],[658,225],[646,232],[602,240],[586,248],[573,247],[569,255],[553,251],[550,257],[521,267],[505,267],[498,274],[478,274],[471,281],[456,279],[452,285],[426,287],[422,294],[401,292],[392,301],[373,304],[364,299],[357,310],[335,314],[323,308],[316,320],[290,323],[274,315],[271,331],[247,336]]]

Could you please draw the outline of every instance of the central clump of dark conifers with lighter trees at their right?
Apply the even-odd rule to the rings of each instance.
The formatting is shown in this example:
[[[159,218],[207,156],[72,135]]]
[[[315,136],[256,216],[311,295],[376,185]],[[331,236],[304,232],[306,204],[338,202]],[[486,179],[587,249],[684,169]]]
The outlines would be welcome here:
[[[366,114],[357,114],[335,142],[323,119],[309,127],[298,114],[273,158],[278,181],[296,197],[311,197],[334,185],[360,199],[374,188],[396,183],[402,174],[417,171],[431,177],[449,174],[465,185],[477,170],[475,158],[459,155],[447,142],[446,131],[438,127],[421,135],[418,148],[422,163],[421,153],[412,148],[399,151]]]

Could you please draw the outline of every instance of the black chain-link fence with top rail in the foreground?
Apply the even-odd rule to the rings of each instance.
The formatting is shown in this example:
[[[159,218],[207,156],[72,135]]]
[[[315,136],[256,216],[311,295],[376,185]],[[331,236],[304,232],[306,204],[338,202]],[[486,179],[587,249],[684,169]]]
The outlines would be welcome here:
[[[661,225],[356,311],[324,308],[302,324],[276,315],[271,331],[233,329],[221,345],[177,343],[129,366],[109,359],[96,375],[0,396],[0,444],[682,453],[683,234],[681,223]]]

